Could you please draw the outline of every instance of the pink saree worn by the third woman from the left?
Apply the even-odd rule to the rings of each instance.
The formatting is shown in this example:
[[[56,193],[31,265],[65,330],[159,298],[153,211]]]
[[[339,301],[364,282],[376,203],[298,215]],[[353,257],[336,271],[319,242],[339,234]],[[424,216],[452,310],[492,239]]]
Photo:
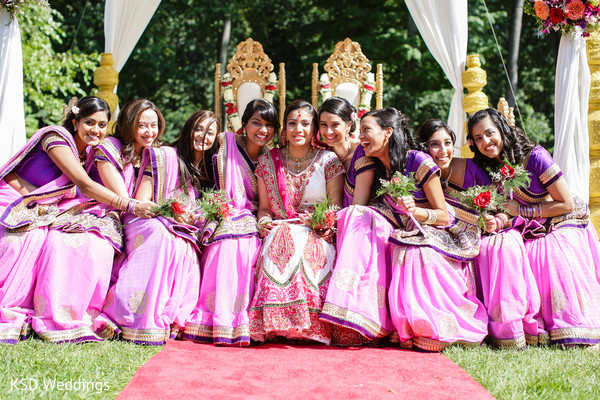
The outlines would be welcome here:
[[[197,191],[187,187],[184,193],[178,186],[174,148],[144,149],[140,171],[153,179],[154,202],[179,198],[194,204]],[[162,345],[183,329],[198,301],[198,228],[162,216],[137,219],[130,214],[124,224],[125,249],[100,320],[125,340]]]

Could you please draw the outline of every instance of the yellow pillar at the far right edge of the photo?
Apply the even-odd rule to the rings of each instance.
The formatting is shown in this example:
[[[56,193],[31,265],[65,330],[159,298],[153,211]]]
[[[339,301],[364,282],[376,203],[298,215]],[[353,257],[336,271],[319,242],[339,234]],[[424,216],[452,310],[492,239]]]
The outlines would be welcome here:
[[[600,35],[594,32],[586,41],[590,86],[588,133],[590,138],[590,217],[600,229]]]

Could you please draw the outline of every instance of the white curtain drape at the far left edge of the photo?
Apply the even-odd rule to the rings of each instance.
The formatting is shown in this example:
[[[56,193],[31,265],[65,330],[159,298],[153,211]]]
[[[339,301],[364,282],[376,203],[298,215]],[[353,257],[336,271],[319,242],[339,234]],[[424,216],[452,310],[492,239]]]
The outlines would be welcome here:
[[[0,8],[0,166],[26,141],[23,109],[23,53],[15,18]]]

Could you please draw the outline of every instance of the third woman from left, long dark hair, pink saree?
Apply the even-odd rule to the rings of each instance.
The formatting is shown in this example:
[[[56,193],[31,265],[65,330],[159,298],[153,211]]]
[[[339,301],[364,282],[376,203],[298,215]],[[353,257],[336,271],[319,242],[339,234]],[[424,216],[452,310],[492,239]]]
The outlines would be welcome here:
[[[211,164],[219,122],[197,111],[185,122],[174,147],[146,147],[136,199],[177,201],[175,218],[149,220],[126,215],[125,252],[103,313],[125,340],[162,345],[183,331],[198,301],[198,227],[192,208],[202,188],[212,187]],[[200,224],[200,222],[198,222]]]

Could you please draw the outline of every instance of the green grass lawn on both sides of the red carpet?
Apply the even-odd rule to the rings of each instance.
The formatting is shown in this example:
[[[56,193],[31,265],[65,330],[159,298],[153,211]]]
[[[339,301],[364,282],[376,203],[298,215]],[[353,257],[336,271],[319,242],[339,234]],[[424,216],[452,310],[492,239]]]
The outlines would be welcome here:
[[[161,349],[124,341],[55,345],[29,339],[0,345],[0,397],[114,399]],[[482,346],[444,354],[498,399],[600,399],[600,352]]]

